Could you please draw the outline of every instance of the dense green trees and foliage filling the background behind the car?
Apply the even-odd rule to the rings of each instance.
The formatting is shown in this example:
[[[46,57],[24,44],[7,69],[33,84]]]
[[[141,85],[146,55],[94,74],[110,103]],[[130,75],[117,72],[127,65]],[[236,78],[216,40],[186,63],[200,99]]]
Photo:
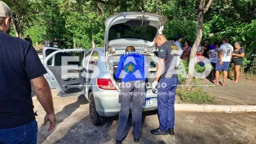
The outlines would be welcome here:
[[[62,48],[91,48],[104,44],[104,22],[123,11],[145,11],[166,17],[164,34],[194,42],[199,0],[4,0],[16,17],[18,32],[29,34],[33,42],[43,43],[59,37]],[[211,35],[212,37],[209,37]],[[203,39],[220,43],[242,41],[246,51],[243,68],[256,73],[256,0],[213,0],[205,14]]]

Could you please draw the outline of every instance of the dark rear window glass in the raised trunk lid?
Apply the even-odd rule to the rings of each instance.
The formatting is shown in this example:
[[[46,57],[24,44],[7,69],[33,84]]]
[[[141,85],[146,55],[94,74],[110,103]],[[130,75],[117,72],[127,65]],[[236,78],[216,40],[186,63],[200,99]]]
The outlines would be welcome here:
[[[108,40],[119,38],[135,38],[153,42],[156,35],[156,28],[150,25],[144,27],[133,27],[120,23],[110,27]]]

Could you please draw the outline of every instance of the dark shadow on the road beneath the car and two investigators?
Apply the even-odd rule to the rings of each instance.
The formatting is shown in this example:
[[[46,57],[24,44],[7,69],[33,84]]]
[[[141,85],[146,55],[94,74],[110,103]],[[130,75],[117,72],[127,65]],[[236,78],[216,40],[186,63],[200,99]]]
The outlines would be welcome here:
[[[144,112],[142,117],[142,127],[144,127],[145,117],[157,114],[157,111]],[[132,115],[129,115],[127,131],[129,132],[132,128]],[[101,144],[101,143],[115,143],[116,140],[116,130],[118,123],[118,116],[106,117],[105,123],[101,126],[93,126],[90,122],[90,116],[87,115],[85,118],[75,123],[67,132],[64,137],[57,140],[54,144]],[[89,123],[88,123],[89,122]],[[88,123],[88,125],[85,125]],[[132,137],[132,138],[131,138]],[[128,134],[124,143],[133,143],[133,136]],[[150,139],[150,137],[143,135],[141,141],[147,142],[149,144],[165,144],[160,139],[157,143]]]

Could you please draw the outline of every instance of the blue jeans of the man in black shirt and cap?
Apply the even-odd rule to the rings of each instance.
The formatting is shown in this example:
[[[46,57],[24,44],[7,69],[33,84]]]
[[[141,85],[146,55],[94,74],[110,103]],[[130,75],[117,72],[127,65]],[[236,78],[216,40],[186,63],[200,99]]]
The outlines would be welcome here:
[[[37,121],[16,128],[0,129],[0,144],[37,144]]]

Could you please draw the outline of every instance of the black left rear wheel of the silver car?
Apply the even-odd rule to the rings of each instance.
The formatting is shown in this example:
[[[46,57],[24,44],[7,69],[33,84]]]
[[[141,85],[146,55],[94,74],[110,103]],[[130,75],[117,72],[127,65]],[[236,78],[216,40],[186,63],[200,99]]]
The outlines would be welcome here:
[[[94,97],[92,95],[92,93],[90,92],[89,94],[89,110],[90,110],[90,118],[91,118],[91,123],[93,125],[101,125],[102,123],[104,123],[104,119],[102,116],[100,116],[98,114],[98,112],[96,111],[96,106],[95,106],[95,101],[94,101]]]

